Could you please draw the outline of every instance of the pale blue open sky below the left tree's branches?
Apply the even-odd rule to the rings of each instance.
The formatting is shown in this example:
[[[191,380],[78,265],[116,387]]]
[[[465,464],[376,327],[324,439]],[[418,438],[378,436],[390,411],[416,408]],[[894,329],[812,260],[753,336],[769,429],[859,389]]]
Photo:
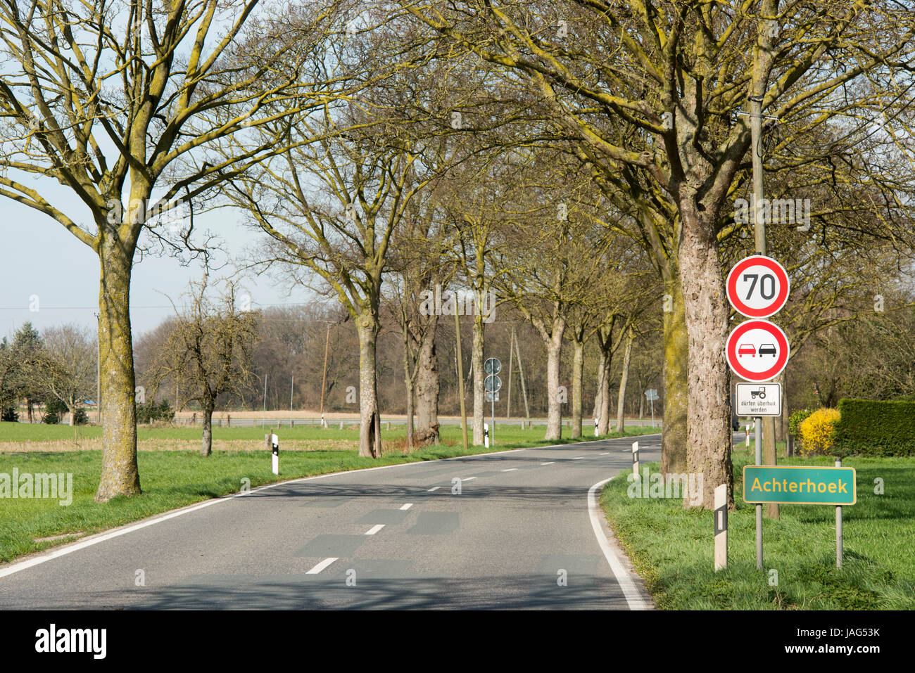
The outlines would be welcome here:
[[[79,210],[76,198],[56,185],[42,193],[53,193],[56,205],[70,214]],[[71,216],[72,217],[72,216]],[[205,223],[205,224],[204,224]],[[244,227],[238,211],[229,208],[208,213],[201,224],[223,240],[222,250],[237,258],[245,248],[256,245],[263,235]],[[99,261],[96,254],[65,230],[56,220],[8,198],[0,198],[0,338],[11,337],[30,321],[39,331],[64,323],[95,329],[99,298]],[[229,266],[211,275],[221,278],[234,271]],[[155,328],[174,313],[169,297],[180,303],[191,280],[202,273],[199,264],[181,266],[168,257],[145,256],[135,263],[131,285],[131,321],[134,338]],[[262,275],[245,279],[243,286],[252,297],[252,307],[272,304],[306,303],[311,294],[296,288],[289,294],[286,284]]]

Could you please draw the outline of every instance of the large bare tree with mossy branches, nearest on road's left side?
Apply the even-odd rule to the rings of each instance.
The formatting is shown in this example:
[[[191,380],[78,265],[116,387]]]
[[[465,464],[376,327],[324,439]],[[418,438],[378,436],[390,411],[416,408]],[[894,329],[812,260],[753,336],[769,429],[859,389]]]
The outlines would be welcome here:
[[[56,219],[101,266],[99,501],[140,493],[129,306],[141,234],[170,251],[193,247],[193,217],[175,227],[162,214],[279,151],[284,135],[221,159],[211,145],[294,117],[316,104],[313,91],[323,103],[339,90],[337,79],[307,80],[304,65],[328,59],[320,45],[334,6],[271,14],[255,11],[258,0],[0,2],[0,196]],[[81,209],[23,176],[69,187]]]

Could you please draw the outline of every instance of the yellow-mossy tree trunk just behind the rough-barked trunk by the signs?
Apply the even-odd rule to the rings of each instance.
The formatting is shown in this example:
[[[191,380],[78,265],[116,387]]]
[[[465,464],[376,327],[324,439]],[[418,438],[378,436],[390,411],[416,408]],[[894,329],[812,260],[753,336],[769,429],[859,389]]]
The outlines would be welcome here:
[[[663,314],[664,337],[664,411],[661,436],[661,471],[680,474],[686,471],[686,404],[689,379],[686,361],[689,341],[686,337],[686,314],[680,279],[664,282],[664,293],[670,296],[670,311]]]

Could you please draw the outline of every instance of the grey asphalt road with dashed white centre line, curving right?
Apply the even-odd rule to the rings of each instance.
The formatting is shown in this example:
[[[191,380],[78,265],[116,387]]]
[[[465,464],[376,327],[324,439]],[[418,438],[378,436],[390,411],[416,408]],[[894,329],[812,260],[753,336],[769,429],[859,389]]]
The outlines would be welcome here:
[[[588,507],[633,439],[660,459],[647,435],[210,500],[0,566],[0,608],[651,607]]]

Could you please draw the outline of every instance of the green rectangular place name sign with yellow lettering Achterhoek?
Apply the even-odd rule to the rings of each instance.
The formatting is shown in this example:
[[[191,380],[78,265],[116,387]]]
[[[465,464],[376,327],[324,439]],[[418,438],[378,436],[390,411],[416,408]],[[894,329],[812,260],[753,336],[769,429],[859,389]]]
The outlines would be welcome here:
[[[854,467],[745,465],[744,501],[793,505],[854,505]]]

